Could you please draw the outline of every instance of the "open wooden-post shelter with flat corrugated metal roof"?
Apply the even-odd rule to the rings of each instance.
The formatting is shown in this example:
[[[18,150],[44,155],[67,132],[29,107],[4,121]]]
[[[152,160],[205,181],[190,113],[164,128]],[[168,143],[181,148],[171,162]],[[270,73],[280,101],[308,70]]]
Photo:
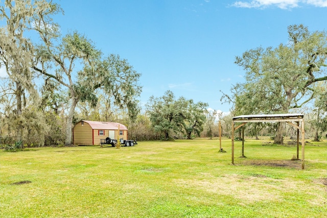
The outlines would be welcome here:
[[[297,159],[299,152],[299,130],[301,130],[302,144],[302,169],[305,168],[305,122],[304,115],[300,113],[287,113],[287,114],[254,114],[254,115],[240,115],[232,118],[231,125],[231,163],[234,164],[234,132],[235,130],[243,127],[247,123],[257,123],[257,122],[286,122],[289,125],[297,129]],[[291,123],[296,122],[297,125]],[[235,123],[242,123],[241,125],[234,127]],[[301,127],[299,125],[301,123]],[[244,134],[243,134],[244,139]],[[244,143],[244,140],[243,142]]]

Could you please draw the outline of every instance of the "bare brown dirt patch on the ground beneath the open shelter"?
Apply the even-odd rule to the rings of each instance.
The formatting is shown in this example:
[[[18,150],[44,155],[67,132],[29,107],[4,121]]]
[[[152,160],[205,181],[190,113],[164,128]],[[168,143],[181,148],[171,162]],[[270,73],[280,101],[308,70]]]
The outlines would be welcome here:
[[[242,165],[300,168],[301,160],[246,160]]]

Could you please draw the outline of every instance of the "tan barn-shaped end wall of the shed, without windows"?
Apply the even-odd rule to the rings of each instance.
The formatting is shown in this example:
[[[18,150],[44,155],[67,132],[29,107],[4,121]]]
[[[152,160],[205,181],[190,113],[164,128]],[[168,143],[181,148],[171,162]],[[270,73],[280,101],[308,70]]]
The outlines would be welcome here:
[[[89,124],[81,122],[74,127],[74,144],[81,146],[89,146],[94,144],[92,140],[92,128]]]

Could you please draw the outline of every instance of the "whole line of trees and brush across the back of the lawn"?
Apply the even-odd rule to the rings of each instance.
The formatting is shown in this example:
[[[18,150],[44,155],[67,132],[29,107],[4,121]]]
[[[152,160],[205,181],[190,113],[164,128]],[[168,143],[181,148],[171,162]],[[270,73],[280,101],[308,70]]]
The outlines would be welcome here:
[[[308,114],[307,130],[318,140],[327,130],[324,31],[288,27],[287,44],[258,47],[237,56],[246,82],[233,85],[222,102],[233,105],[223,116],[207,103],[175,98],[172,91],[151,96],[145,108],[138,102],[141,74],[119,55],[105,55],[83,34],[60,35],[54,15],[58,4],[45,0],[5,0],[0,3],[0,143],[28,146],[72,144],[72,128],[81,119],[120,122],[139,140],[217,137],[218,120],[230,137],[232,116],[260,113]],[[30,36],[30,37],[28,37]],[[306,110],[308,103],[314,106]],[[274,134],[283,143],[289,128],[252,124],[251,136]],[[21,145],[22,146],[22,145]]]

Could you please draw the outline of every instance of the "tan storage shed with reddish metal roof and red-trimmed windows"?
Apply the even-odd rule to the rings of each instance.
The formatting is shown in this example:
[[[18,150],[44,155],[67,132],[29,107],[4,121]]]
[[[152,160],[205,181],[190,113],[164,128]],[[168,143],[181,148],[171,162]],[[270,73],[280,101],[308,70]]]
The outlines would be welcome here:
[[[74,126],[73,143],[76,146],[99,145],[100,139],[127,140],[127,127],[120,123],[81,120]]]

